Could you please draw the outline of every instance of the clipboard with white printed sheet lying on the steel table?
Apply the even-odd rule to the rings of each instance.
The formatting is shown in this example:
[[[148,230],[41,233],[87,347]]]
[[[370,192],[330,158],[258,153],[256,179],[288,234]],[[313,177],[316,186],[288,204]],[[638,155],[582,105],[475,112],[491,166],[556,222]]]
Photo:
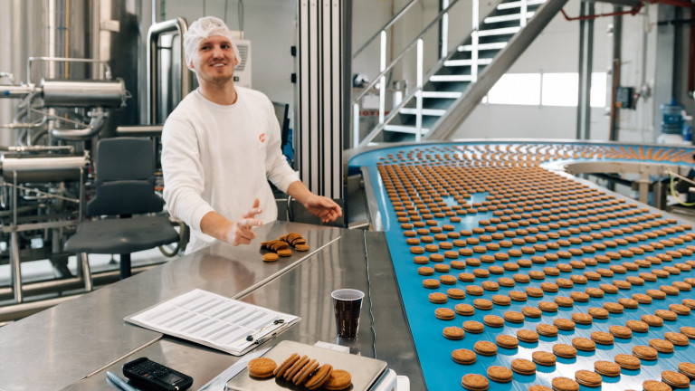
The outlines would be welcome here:
[[[300,317],[195,289],[124,318],[127,322],[243,356]]]

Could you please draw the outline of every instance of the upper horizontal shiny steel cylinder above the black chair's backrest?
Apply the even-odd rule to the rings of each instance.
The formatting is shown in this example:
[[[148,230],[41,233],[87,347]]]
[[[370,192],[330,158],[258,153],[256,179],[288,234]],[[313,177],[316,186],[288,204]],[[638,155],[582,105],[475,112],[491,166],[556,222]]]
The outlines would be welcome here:
[[[41,81],[43,105],[48,107],[122,108],[126,105],[126,84],[115,81]]]

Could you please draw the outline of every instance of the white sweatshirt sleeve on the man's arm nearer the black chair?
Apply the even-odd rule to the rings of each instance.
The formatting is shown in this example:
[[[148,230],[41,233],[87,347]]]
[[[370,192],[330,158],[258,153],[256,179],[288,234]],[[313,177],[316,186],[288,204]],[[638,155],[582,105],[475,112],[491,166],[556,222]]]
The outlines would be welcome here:
[[[162,130],[164,200],[169,213],[200,231],[200,220],[213,210],[203,197],[205,172],[198,139],[189,120],[170,117]]]

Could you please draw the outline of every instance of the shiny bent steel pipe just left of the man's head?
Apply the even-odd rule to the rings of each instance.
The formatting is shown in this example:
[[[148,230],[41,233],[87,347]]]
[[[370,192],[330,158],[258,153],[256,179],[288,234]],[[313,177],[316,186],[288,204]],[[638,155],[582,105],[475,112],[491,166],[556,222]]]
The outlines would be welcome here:
[[[181,39],[181,97],[183,100],[188,92],[193,90],[193,74],[188,71],[186,60],[184,59],[184,34],[188,31],[188,23],[184,18],[176,18],[152,24],[148,30],[148,124],[152,124],[157,119],[157,91],[159,91],[159,81],[157,81],[157,69],[159,68],[159,60],[157,57],[157,43],[159,36],[163,33],[178,32]]]

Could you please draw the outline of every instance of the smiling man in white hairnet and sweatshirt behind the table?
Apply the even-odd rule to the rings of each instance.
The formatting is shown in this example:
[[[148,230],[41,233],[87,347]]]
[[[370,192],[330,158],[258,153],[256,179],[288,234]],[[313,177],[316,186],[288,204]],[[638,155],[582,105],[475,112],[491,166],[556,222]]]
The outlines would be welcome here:
[[[324,223],[342,215],[331,199],[312,194],[282,156],[271,101],[234,86],[239,52],[224,22],[195,21],[184,47],[199,88],[164,124],[162,167],[169,212],[192,228],[188,252],[214,239],[250,243],[252,227],[277,219],[267,179]]]

